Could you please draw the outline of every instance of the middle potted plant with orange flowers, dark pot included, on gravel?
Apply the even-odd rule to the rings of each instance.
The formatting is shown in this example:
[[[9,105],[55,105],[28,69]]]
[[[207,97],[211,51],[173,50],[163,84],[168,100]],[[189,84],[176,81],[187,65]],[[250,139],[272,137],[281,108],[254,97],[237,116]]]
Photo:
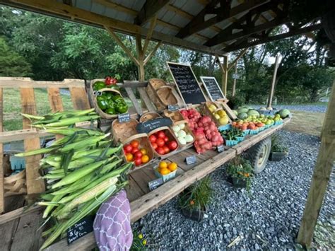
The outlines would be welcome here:
[[[249,160],[237,156],[230,161],[227,168],[228,181],[237,188],[250,189],[252,181],[252,165]]]

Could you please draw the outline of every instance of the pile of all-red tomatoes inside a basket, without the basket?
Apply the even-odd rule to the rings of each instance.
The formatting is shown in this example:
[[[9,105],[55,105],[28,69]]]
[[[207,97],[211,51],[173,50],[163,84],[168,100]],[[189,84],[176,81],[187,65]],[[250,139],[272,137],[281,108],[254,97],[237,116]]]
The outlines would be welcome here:
[[[177,141],[170,140],[164,130],[151,134],[149,141],[159,155],[170,153],[170,151],[174,151],[178,147]]]

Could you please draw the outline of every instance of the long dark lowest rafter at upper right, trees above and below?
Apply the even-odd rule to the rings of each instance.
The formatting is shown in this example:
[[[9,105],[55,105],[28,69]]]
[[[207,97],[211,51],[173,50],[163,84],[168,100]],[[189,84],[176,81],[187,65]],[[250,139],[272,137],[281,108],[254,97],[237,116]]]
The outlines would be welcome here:
[[[265,42],[272,42],[272,41],[276,41],[276,40],[281,40],[283,38],[286,37],[292,37],[294,35],[301,35],[301,34],[305,34],[305,33],[310,33],[313,30],[319,30],[322,28],[322,24],[316,24],[316,25],[310,25],[304,28],[300,28],[300,29],[296,29],[296,30],[290,30],[287,33],[282,33],[279,35],[274,35],[271,37],[264,37],[261,38],[259,40],[254,40],[252,42],[242,42],[239,45],[236,45],[235,43],[232,45],[228,45],[227,47],[225,47],[225,52],[232,52],[235,51],[237,49],[242,49],[242,48],[246,48],[246,47],[251,47],[254,45],[261,45],[264,44]]]

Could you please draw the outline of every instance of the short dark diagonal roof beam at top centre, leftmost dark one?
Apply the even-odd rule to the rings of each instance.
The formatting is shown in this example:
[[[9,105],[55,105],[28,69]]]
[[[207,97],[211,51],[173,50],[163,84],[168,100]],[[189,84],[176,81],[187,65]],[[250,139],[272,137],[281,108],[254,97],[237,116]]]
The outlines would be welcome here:
[[[170,0],[146,0],[141,11],[135,18],[137,25],[143,25],[149,19],[153,18],[162,8],[164,8]]]

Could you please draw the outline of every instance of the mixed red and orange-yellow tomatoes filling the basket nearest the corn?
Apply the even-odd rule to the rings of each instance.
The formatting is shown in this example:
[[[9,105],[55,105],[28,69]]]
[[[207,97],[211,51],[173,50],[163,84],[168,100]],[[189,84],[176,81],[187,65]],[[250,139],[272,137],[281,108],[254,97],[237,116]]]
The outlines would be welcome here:
[[[136,166],[148,163],[150,157],[146,148],[139,148],[139,141],[133,140],[123,147],[124,155],[128,162],[134,161]]]

